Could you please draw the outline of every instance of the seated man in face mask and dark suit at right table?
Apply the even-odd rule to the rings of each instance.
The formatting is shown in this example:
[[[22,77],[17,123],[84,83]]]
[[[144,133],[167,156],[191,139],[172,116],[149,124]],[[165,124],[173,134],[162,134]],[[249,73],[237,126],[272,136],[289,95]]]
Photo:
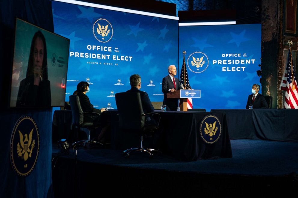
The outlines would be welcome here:
[[[251,88],[252,94],[248,96],[246,109],[248,105],[252,105],[253,109],[268,109],[268,104],[264,96],[259,93],[260,85],[253,84]]]

